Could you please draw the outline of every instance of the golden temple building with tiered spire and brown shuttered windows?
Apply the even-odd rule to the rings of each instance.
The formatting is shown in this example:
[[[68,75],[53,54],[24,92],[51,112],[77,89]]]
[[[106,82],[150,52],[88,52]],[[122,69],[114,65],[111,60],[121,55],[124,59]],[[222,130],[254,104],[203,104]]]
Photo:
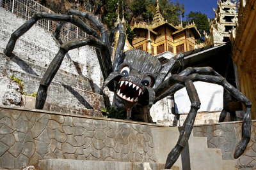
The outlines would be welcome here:
[[[195,24],[183,27],[182,24],[175,26],[164,21],[159,11],[158,0],[152,24],[135,23],[131,29],[135,34],[132,46],[150,52],[152,55],[163,52],[177,54],[193,50],[196,46],[196,39],[201,37]]]

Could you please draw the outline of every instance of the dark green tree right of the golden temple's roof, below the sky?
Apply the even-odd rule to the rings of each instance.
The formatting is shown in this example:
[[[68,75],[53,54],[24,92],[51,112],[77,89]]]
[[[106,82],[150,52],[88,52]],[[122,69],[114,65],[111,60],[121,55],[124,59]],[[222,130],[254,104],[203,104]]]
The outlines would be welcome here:
[[[204,31],[209,34],[209,21],[204,13],[190,11],[187,15],[187,24],[195,22],[195,25],[200,32],[202,38],[200,41],[204,41]]]

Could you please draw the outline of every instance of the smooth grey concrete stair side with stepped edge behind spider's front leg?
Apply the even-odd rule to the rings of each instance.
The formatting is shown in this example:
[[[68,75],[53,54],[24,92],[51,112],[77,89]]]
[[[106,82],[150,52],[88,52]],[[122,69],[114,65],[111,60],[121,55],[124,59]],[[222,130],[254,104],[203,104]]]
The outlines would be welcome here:
[[[157,162],[165,163],[168,153],[174,148],[179,139],[179,134],[178,127],[152,129]],[[177,166],[179,169],[191,170],[231,170],[236,169],[236,161],[222,160],[220,149],[208,148],[205,137],[194,137],[191,133],[186,148],[173,166]]]

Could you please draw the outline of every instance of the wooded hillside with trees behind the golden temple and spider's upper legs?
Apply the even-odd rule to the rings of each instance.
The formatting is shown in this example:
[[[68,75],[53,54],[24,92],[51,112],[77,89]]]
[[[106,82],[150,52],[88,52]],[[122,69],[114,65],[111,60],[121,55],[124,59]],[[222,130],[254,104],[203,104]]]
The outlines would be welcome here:
[[[156,13],[156,0],[37,0],[55,13],[67,13],[68,9],[89,11],[99,16],[100,21],[111,29],[116,22],[117,3],[120,5],[120,17],[124,9],[124,18],[127,21],[127,36],[131,40],[134,36],[130,26],[134,22],[152,22]],[[160,12],[164,19],[173,25],[180,24],[180,17],[184,17],[184,4],[179,1],[159,0]],[[209,22],[207,16],[202,13],[189,13],[188,21],[183,22],[185,26],[188,23],[195,22],[198,30],[209,32]],[[201,39],[202,41],[203,39]]]

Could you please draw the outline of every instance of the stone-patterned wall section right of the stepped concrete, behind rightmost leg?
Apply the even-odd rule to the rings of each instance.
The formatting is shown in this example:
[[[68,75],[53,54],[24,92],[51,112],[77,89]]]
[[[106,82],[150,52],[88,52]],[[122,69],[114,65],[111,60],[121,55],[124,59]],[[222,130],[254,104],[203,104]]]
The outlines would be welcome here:
[[[235,160],[236,145],[241,139],[242,123],[227,122],[211,125],[196,125],[193,128],[194,136],[207,137],[209,148],[221,149],[223,160]],[[250,142],[243,155],[236,159],[239,169],[256,169],[256,121],[252,121],[252,133]]]

